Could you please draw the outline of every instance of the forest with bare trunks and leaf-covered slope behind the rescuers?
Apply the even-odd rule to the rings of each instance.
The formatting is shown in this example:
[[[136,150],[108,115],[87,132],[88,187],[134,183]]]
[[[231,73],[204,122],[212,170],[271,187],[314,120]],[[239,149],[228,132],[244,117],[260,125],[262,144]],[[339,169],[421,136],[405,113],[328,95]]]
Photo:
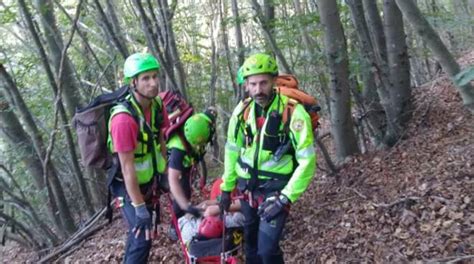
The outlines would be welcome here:
[[[123,223],[103,217],[105,172],[81,163],[71,120],[146,51],[160,90],[217,109],[209,179],[249,55],[272,54],[318,99],[318,168],[288,263],[472,261],[473,15],[473,0],[0,1],[1,258],[122,259],[106,242]],[[152,250],[182,263],[164,235]]]

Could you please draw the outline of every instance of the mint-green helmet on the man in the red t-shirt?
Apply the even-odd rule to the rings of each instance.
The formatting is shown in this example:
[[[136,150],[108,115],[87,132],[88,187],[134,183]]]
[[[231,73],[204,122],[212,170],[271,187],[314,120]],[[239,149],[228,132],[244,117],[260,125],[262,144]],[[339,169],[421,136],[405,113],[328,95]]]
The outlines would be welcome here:
[[[159,70],[160,63],[149,53],[135,53],[125,60],[123,64],[124,82],[130,83],[130,80],[142,72]]]

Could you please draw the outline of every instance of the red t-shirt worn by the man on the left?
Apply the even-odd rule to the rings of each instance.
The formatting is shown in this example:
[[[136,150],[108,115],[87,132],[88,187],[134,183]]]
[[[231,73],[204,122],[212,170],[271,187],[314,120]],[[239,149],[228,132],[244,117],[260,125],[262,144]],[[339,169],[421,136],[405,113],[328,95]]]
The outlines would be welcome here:
[[[145,110],[145,120],[149,124],[151,118],[150,109]],[[166,110],[163,108],[162,127],[169,123]],[[110,121],[110,134],[114,143],[114,151],[118,153],[130,152],[137,147],[139,127],[135,119],[128,113],[119,113]]]

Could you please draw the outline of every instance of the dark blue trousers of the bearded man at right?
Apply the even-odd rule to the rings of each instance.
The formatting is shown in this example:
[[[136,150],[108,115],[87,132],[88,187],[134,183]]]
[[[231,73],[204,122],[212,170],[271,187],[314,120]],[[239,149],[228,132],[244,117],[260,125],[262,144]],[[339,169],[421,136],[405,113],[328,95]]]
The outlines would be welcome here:
[[[240,200],[241,211],[245,216],[244,250],[247,264],[279,264],[284,263],[280,249],[280,239],[285,226],[288,212],[282,211],[270,222],[260,220],[257,208],[250,207],[245,200]]]

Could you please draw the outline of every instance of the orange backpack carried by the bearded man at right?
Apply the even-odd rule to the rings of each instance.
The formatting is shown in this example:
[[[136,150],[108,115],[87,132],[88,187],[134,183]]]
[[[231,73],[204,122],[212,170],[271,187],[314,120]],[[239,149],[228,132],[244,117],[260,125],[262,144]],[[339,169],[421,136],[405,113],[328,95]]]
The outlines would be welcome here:
[[[319,114],[321,107],[318,105],[318,101],[313,96],[305,93],[298,89],[298,80],[294,75],[281,74],[275,80],[275,90],[282,95],[289,97],[288,103],[283,109],[282,122],[285,124],[288,121],[288,117],[293,114],[296,104],[302,104],[311,117],[311,125],[313,131],[319,126]],[[245,100],[244,120],[248,119],[250,108],[248,105],[251,100]]]

